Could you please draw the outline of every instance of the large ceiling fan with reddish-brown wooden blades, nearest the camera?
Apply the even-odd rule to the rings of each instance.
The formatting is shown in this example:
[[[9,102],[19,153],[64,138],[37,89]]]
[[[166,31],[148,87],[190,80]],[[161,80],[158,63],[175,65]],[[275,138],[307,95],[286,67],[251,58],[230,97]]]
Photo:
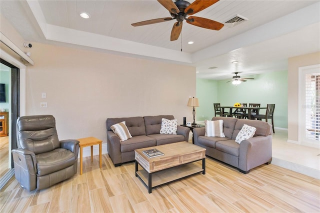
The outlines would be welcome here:
[[[203,17],[197,17],[197,16],[189,16],[216,3],[218,0],[195,0],[191,4],[185,0],[176,0],[175,2],[171,0],[157,0],[157,1],[170,12],[171,17],[144,20],[136,23],[131,23],[131,25],[142,26],[146,24],[159,23],[163,21],[176,19],[176,22],[173,24],[173,27],[171,30],[171,35],[170,35],[171,41],[178,39],[181,33],[182,22],[184,19],[189,24],[207,28],[207,29],[219,30],[224,25],[223,23],[217,22],[215,20],[211,20]]]

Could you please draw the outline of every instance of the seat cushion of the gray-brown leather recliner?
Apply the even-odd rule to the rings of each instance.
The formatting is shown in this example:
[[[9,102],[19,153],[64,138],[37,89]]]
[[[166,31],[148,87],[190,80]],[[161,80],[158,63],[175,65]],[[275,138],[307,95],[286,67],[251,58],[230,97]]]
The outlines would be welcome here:
[[[74,164],[74,153],[65,148],[56,148],[52,151],[35,155],[36,172],[38,176],[53,173]]]

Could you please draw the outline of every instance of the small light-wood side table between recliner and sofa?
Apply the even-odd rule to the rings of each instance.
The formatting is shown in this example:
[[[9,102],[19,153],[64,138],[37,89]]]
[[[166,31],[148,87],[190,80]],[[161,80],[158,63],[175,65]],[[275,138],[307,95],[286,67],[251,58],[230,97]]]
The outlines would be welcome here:
[[[99,145],[99,162],[100,168],[102,168],[102,140],[95,137],[79,138],[80,147],[80,174],[82,174],[82,148],[85,146],[91,146],[91,162],[93,161],[93,145]]]

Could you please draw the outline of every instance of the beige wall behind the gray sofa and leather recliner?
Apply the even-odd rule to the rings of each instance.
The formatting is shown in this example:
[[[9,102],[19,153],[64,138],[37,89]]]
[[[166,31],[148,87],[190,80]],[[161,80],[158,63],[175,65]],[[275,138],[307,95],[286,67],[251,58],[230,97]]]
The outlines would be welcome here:
[[[95,136],[106,142],[107,117],[173,114],[192,118],[195,68],[32,43],[26,69],[26,114],[52,114],[59,139]],[[46,98],[41,98],[46,92]],[[47,108],[40,108],[40,102]]]

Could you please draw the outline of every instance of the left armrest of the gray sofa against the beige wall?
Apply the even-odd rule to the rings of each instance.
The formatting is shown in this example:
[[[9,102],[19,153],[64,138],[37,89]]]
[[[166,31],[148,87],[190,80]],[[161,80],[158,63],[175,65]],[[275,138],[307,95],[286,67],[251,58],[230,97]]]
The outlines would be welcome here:
[[[120,138],[113,131],[106,131],[106,148],[113,164],[121,163]]]

